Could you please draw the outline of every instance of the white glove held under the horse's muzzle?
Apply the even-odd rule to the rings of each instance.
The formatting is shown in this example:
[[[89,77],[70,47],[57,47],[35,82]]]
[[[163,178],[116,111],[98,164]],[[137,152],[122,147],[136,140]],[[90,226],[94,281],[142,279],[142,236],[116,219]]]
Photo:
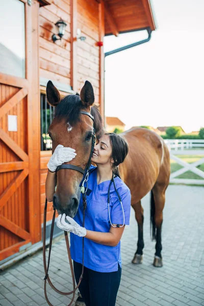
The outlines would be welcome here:
[[[65,221],[65,217],[69,223]],[[74,219],[66,216],[65,214],[58,216],[57,226],[61,228],[61,230],[66,231],[66,232],[71,232],[79,237],[86,236],[86,228],[80,226],[76,221],[74,221]]]

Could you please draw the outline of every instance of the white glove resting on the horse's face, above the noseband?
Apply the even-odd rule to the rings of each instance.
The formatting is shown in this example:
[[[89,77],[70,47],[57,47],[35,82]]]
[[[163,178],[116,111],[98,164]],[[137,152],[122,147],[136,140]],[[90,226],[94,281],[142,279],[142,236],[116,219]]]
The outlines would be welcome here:
[[[57,166],[62,165],[63,163],[70,162],[77,154],[74,153],[75,150],[72,148],[64,147],[61,144],[58,144],[53,155],[50,157],[47,168],[55,172]]]

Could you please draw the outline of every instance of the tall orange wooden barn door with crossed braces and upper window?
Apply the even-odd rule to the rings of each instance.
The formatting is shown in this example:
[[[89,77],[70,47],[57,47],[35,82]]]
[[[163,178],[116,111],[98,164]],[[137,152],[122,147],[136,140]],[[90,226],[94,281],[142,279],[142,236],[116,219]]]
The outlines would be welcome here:
[[[1,261],[40,240],[38,3],[1,1],[0,25]]]

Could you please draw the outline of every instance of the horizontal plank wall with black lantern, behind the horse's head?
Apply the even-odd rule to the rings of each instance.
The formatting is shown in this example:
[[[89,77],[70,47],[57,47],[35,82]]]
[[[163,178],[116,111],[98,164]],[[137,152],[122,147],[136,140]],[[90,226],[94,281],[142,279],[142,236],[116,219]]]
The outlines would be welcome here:
[[[74,20],[71,20],[72,12]],[[55,0],[53,4],[41,7],[39,9],[39,64],[40,78],[70,86],[75,84],[72,88],[74,91],[80,92],[86,80],[91,82],[95,104],[99,106],[100,99],[103,98],[101,92],[103,93],[104,90],[100,89],[99,71],[100,69],[103,71],[104,66],[101,68],[101,49],[96,44],[100,40],[98,15],[99,4],[95,0]],[[61,41],[54,43],[52,35],[57,34],[55,23],[60,18],[67,23],[66,32]],[[75,25],[71,22],[75,22]],[[85,41],[76,40],[77,28],[81,30],[82,36],[86,36]],[[71,74],[71,69],[74,69],[74,75]],[[101,110],[103,111],[103,108]],[[41,223],[45,200],[46,164],[51,154],[50,151],[41,151]],[[53,203],[48,203],[47,210],[47,220],[50,220],[53,214]]]

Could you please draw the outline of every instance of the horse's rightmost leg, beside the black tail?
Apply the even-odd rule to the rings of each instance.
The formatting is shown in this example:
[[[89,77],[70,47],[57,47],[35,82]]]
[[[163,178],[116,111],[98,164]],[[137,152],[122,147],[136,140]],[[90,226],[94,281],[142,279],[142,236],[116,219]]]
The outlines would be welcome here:
[[[168,186],[168,185],[167,185]],[[152,239],[156,239],[156,252],[153,265],[162,267],[162,222],[163,209],[165,204],[166,184],[156,182],[151,191],[151,221],[152,221]]]

